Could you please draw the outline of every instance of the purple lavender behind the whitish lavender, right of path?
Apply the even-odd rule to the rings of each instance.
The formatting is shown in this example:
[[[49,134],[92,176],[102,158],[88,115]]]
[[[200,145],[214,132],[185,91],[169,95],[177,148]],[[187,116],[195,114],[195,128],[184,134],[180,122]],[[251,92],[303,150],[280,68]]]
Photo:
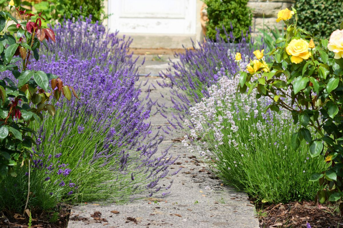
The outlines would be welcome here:
[[[161,85],[172,88],[174,109],[181,113],[189,113],[190,106],[209,96],[210,86],[217,84],[223,76],[234,75],[239,70],[234,53],[242,53],[243,60],[252,56],[251,45],[247,40],[248,34],[242,34],[243,38],[237,44],[227,43],[235,40],[232,32],[227,34],[225,31],[225,35],[226,38],[223,39],[217,30],[215,43],[206,38],[204,42],[198,42],[199,49],[195,48],[194,43],[195,50],[186,50],[184,54],[175,55],[179,61],[171,62],[171,68],[163,75],[171,83]]]

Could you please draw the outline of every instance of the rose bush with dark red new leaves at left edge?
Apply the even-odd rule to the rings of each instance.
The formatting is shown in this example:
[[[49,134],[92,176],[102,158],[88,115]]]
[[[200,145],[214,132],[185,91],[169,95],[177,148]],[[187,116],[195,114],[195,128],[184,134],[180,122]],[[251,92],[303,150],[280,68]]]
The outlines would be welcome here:
[[[15,8],[21,19],[19,23],[11,14],[13,9],[14,2],[10,1],[9,12],[0,12],[0,72],[11,71],[15,79],[5,77],[0,80],[0,178],[8,173],[15,177],[13,167],[17,163],[29,163],[37,130],[30,128],[30,123],[43,119],[43,111],[55,114],[55,107],[48,103],[49,99],[55,97],[58,100],[63,94],[70,100],[71,91],[77,97],[74,89],[63,85],[57,76],[27,68],[33,61],[32,56],[36,61],[39,59],[41,42],[46,44],[49,39],[55,42],[55,33],[50,28],[41,27],[42,20],[45,20],[41,13],[36,21],[31,21],[33,14]],[[10,21],[15,24],[7,26]],[[19,61],[22,61],[21,65]]]

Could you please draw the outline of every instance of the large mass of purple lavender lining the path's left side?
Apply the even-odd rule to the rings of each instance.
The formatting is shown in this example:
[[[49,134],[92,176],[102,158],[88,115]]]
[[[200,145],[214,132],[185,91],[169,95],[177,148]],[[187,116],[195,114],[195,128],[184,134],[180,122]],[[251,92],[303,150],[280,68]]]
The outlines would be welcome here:
[[[46,196],[53,199],[49,205],[60,201],[126,202],[142,191],[151,196],[162,189],[158,181],[168,175],[168,166],[175,159],[168,150],[157,152],[163,137],[156,134],[146,140],[151,134],[146,119],[153,103],[143,104],[139,99],[140,90],[134,86],[137,79],[135,61],[127,53],[131,41],[107,34],[103,26],[81,21],[65,22],[63,28],[56,29],[56,39],[63,35],[67,37],[60,40],[63,46],[48,45],[49,50],[42,51],[46,61],[34,62],[28,68],[49,69],[68,81],[80,99],[54,103],[61,111],[57,111],[54,118],[45,118],[43,123],[35,125],[39,131],[33,156],[42,160],[44,168],[38,169],[34,178],[42,182],[45,192],[55,194],[54,197]],[[73,34],[67,35],[65,30]],[[76,41],[80,41],[80,45]],[[6,72],[2,74],[7,76]],[[68,180],[59,179],[60,168],[54,169],[55,179],[46,172],[50,155],[56,160],[53,164],[66,164],[63,170],[68,169]],[[50,179],[46,180],[48,177]],[[62,180],[65,186],[58,184]],[[8,178],[3,182],[6,187],[3,191],[10,186],[13,190],[11,181]],[[75,186],[68,187],[69,181]],[[15,191],[25,194],[22,189]],[[40,190],[35,192],[39,197]],[[162,194],[168,194],[168,191]],[[6,202],[15,197],[13,194]],[[40,205],[34,201],[30,203],[31,206]]]

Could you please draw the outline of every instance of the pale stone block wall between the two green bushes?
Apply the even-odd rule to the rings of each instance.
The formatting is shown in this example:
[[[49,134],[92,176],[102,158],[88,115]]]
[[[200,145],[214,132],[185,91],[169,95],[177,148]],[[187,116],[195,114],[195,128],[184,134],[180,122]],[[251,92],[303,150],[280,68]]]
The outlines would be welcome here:
[[[253,14],[253,34],[258,34],[258,29],[262,29],[263,24],[270,28],[274,28],[275,25],[277,29],[282,30],[284,23],[276,22],[277,12],[285,8],[290,9],[293,3],[292,0],[249,0],[248,7],[251,8]]]

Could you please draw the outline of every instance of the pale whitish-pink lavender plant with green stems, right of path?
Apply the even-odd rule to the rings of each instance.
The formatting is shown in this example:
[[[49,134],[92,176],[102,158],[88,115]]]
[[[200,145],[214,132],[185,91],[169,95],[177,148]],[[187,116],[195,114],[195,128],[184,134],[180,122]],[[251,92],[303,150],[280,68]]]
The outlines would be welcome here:
[[[291,114],[264,112],[271,101],[236,94],[237,84],[238,78],[222,77],[208,98],[190,108],[197,151],[224,182],[257,200],[312,199],[321,187],[310,177],[325,170],[326,163],[309,159],[305,142],[297,151],[290,148],[291,133],[299,128]],[[193,151],[189,141],[186,136],[184,144]]]

